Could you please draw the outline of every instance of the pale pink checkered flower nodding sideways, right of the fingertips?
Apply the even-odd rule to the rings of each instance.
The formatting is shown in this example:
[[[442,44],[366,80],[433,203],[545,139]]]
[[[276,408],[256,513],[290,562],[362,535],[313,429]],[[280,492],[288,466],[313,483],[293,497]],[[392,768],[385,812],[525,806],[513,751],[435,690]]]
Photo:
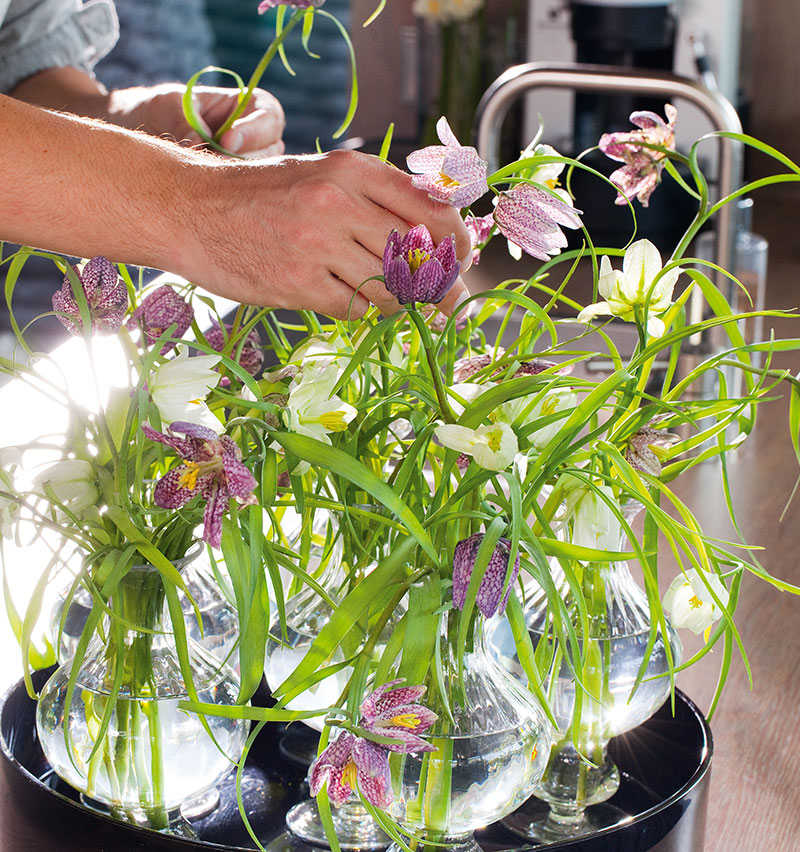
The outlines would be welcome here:
[[[561,228],[580,228],[580,213],[549,192],[520,183],[500,193],[494,221],[503,236],[531,257],[549,260],[567,245]]]

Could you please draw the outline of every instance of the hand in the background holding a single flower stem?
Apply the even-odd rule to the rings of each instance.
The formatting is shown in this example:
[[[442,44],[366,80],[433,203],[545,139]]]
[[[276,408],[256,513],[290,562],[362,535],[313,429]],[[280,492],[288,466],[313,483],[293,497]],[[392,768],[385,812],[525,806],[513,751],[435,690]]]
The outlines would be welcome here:
[[[168,136],[182,145],[200,145],[203,140],[192,130],[183,113],[183,86],[163,84],[117,89],[109,94],[108,119],[131,130],[152,136]],[[195,110],[209,136],[222,126],[236,107],[238,89],[195,86]],[[282,154],[286,119],[278,100],[256,89],[244,112],[226,131],[220,145],[240,157]]]

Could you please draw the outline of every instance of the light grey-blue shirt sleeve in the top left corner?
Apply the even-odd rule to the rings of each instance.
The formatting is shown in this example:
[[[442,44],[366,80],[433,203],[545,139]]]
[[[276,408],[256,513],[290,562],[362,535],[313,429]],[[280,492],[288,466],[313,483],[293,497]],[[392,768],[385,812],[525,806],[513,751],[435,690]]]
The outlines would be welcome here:
[[[91,71],[118,34],[111,0],[0,0],[0,92],[45,68]]]

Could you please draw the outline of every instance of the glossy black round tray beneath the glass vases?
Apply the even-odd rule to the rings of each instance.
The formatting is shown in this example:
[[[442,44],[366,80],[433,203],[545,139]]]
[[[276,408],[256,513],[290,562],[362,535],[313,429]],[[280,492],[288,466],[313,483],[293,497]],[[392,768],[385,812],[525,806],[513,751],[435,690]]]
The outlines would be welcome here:
[[[37,672],[34,684],[44,684],[49,672]],[[77,793],[57,778],[42,754],[34,724],[36,704],[22,682],[0,705],[0,772],[5,799],[5,832],[15,838],[15,852],[57,849],[58,852],[239,852],[256,846],[236,804],[232,776],[219,788],[220,806],[192,822],[199,840],[158,834],[117,822],[85,807]],[[305,769],[282,756],[278,747],[283,728],[267,725],[255,741],[243,774],[248,817],[260,841],[281,844],[284,816],[308,795]],[[703,847],[712,739],[697,707],[676,692],[675,714],[669,703],[634,731],[612,740],[609,749],[620,769],[622,783],[612,804],[632,814],[623,824],[557,843],[548,849],[571,852],[698,852]],[[523,849],[523,841],[500,825],[477,832],[488,852]],[[36,845],[24,845],[35,838]],[[28,841],[31,843],[31,841]]]

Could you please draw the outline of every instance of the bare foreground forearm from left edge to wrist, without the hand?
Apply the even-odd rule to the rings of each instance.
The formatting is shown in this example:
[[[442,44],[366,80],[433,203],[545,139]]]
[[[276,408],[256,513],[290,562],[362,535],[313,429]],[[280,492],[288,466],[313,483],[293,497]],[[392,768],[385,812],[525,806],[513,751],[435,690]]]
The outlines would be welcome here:
[[[0,238],[179,271],[187,168],[210,155],[0,99]]]

